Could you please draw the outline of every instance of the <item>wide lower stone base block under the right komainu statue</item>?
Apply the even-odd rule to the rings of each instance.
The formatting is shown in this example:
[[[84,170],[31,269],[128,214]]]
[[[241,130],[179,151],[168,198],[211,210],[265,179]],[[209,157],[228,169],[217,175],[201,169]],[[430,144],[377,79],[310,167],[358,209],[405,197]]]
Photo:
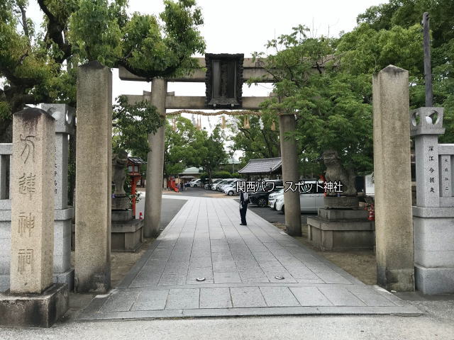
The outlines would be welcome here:
[[[320,217],[308,217],[309,241],[322,251],[345,249],[373,249],[375,223],[330,222]]]

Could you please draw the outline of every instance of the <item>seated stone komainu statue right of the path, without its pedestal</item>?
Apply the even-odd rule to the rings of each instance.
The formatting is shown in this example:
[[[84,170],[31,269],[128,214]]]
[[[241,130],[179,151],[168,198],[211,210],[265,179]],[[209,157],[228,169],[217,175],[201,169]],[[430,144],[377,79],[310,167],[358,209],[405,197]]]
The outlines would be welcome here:
[[[355,174],[353,171],[347,171],[341,164],[338,152],[334,150],[326,150],[323,152],[323,163],[326,165],[325,179],[328,182],[341,182],[341,196],[357,196],[355,188]],[[337,196],[337,193],[328,191],[328,196]]]

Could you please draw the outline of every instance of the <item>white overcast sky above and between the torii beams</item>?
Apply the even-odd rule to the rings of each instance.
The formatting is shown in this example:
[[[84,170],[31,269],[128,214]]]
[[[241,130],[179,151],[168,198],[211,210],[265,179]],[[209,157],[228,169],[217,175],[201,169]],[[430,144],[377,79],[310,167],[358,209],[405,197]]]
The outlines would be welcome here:
[[[292,31],[299,24],[311,28],[316,36],[337,37],[341,31],[348,32],[356,26],[356,17],[366,8],[386,2],[384,0],[198,0],[204,26],[201,34],[206,40],[206,52],[244,53],[245,57],[255,51],[264,51],[267,40]],[[42,13],[36,1],[30,1],[29,15],[40,20]],[[129,12],[146,14],[162,12],[160,0],[129,0]],[[33,14],[32,14],[33,13]],[[150,83],[142,81],[121,81],[118,70],[113,69],[113,95],[142,94],[150,91]],[[267,96],[270,85],[260,84],[253,88],[243,87],[243,96]],[[168,91],[176,96],[204,96],[203,83],[170,83]],[[190,118],[190,115],[184,115]],[[221,118],[202,118],[207,130],[216,125]]]

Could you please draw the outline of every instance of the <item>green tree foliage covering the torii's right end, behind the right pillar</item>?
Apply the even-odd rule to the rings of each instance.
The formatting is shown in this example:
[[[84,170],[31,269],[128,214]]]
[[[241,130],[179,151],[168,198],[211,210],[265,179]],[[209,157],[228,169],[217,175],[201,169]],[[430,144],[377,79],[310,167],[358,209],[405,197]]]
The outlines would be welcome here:
[[[448,0],[391,0],[368,8],[358,26],[338,38],[314,38],[298,26],[267,42],[267,52],[255,53],[275,80],[275,96],[262,103],[262,112],[296,114],[292,137],[303,169],[316,168],[323,151],[335,149],[345,166],[372,171],[372,74],[387,65],[409,70],[411,108],[424,106],[424,11],[431,13],[434,106],[445,108],[441,141],[454,140],[453,6]]]

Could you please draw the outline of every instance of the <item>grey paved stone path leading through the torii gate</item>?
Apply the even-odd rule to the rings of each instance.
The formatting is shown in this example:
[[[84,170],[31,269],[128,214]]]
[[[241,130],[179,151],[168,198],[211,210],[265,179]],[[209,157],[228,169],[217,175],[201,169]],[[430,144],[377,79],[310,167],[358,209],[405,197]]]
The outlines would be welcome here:
[[[253,212],[247,227],[239,223],[231,198],[188,198],[120,285],[79,319],[420,313]]]

